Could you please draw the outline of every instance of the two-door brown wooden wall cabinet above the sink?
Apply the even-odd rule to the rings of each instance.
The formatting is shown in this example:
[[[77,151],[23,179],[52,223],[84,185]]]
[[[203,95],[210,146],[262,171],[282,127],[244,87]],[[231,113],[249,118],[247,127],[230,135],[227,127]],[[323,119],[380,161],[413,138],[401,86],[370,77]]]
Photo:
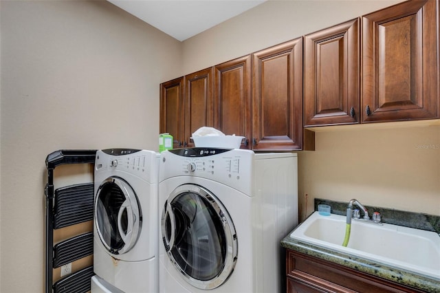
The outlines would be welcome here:
[[[305,36],[305,127],[440,118],[438,13],[406,1]]]

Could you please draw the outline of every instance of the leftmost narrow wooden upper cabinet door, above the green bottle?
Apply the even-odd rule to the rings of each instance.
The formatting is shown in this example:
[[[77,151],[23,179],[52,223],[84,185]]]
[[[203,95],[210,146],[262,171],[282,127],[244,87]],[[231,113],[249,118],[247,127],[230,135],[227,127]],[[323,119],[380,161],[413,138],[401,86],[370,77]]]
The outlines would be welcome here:
[[[173,135],[173,149],[184,143],[184,78],[160,85],[160,133]]]

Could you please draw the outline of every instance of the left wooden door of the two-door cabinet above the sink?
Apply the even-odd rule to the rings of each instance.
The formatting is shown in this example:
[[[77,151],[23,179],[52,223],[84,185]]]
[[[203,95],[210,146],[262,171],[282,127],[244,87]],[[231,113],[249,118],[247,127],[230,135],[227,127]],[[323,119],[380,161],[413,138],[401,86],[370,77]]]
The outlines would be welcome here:
[[[359,20],[305,36],[305,126],[359,122]]]

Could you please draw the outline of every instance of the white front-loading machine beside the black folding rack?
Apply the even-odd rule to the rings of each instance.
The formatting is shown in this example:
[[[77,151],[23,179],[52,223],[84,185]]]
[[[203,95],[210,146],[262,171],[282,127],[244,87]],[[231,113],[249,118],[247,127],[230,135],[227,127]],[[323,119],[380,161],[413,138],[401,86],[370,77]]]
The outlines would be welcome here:
[[[96,153],[91,292],[157,292],[159,156],[135,149]]]

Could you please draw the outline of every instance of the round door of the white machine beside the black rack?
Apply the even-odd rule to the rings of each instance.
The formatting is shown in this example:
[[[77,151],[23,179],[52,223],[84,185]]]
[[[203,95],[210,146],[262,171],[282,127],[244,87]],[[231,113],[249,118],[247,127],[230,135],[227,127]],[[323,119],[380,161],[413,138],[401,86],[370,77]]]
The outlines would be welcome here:
[[[128,252],[140,234],[142,214],[133,188],[120,177],[104,180],[96,192],[95,225],[112,254]]]

